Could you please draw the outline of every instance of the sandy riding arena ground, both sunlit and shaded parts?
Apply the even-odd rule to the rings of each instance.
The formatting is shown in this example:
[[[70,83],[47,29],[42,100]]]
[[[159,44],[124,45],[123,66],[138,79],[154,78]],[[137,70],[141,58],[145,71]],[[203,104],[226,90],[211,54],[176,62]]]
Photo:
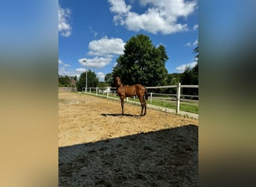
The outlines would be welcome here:
[[[58,94],[59,186],[198,186],[198,120]]]

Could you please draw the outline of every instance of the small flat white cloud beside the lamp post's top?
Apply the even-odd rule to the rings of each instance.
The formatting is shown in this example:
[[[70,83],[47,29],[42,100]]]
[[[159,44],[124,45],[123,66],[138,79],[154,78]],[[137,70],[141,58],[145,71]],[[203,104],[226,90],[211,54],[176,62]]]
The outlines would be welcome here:
[[[112,58],[104,58],[104,57],[95,57],[95,58],[81,58],[79,59],[79,64],[83,67],[95,67],[95,68],[102,68],[110,64]]]

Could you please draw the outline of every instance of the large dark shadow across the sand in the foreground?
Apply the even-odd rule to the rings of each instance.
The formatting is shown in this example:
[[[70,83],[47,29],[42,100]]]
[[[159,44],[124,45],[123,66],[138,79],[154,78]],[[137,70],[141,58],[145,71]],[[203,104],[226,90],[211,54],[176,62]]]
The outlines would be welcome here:
[[[58,163],[59,186],[198,186],[198,126],[59,147]]]

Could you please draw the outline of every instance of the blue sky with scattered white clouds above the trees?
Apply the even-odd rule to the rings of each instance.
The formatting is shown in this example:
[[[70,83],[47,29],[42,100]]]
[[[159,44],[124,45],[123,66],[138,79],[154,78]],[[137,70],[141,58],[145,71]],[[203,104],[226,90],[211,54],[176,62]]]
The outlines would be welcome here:
[[[59,0],[58,6],[60,75],[79,76],[88,69],[103,81],[125,43],[137,34],[150,37],[154,46],[165,46],[168,73],[195,66],[198,1]]]

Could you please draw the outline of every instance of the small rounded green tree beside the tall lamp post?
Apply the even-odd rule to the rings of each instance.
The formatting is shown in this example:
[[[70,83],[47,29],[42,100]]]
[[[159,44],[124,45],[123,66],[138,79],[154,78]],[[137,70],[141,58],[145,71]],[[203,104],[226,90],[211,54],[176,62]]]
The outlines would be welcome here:
[[[90,87],[96,88],[98,82],[99,82],[99,78],[97,78],[97,75],[93,71],[88,70],[87,88],[90,88]],[[86,85],[86,72],[80,75],[79,81],[77,82],[77,91],[82,91],[82,88],[85,88],[85,85]]]

